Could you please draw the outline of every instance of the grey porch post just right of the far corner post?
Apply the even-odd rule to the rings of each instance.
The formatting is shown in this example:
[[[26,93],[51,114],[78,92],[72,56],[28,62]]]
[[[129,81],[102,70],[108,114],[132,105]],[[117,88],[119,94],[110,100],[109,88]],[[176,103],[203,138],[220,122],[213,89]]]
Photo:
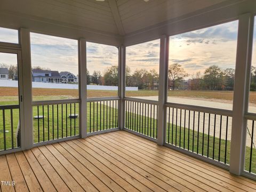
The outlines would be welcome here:
[[[169,60],[169,37],[163,35],[160,38],[160,61],[159,61],[159,93],[158,93],[158,125],[157,144],[164,145],[166,128],[167,101],[167,74]]]

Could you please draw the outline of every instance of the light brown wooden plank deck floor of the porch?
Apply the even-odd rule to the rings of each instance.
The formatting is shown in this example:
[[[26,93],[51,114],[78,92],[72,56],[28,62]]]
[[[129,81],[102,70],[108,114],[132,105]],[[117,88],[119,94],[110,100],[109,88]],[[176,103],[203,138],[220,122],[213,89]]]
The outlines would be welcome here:
[[[0,156],[0,191],[255,191],[256,182],[125,131]]]

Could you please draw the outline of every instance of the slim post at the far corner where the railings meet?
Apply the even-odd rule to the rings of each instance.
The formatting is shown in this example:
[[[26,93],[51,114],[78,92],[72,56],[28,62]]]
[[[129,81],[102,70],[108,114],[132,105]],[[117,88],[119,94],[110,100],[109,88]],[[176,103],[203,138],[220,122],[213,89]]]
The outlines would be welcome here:
[[[119,128],[124,129],[125,121],[125,46],[119,46],[118,50],[118,62],[119,62]]]

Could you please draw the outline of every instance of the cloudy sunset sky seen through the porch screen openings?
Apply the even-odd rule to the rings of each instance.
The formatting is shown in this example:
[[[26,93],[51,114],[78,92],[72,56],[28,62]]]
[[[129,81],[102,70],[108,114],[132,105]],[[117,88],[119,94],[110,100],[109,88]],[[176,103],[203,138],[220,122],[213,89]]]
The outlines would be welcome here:
[[[256,28],[256,25],[254,25]],[[190,77],[205,68],[218,65],[222,69],[235,68],[238,22],[191,31],[170,37],[169,65],[179,63]],[[18,42],[17,30],[0,28],[0,41]],[[2,40],[3,41],[3,40]],[[254,30],[256,46],[256,30]],[[253,65],[256,66],[254,49]],[[14,57],[0,54],[0,63],[13,63]],[[31,33],[32,66],[41,66],[51,70],[71,71],[78,74],[77,41]],[[118,65],[118,50],[115,46],[87,43],[87,68],[90,74],[94,70],[105,73],[111,65]],[[136,69],[159,70],[159,39],[129,46],[126,49],[126,65],[133,72]]]

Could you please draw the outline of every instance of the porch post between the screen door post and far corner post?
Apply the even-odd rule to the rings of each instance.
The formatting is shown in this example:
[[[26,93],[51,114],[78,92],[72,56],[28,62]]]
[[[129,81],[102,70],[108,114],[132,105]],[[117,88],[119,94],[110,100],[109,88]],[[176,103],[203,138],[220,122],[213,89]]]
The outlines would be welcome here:
[[[87,77],[86,77],[86,40],[78,41],[78,66],[79,66],[79,125],[81,138],[87,137]]]

